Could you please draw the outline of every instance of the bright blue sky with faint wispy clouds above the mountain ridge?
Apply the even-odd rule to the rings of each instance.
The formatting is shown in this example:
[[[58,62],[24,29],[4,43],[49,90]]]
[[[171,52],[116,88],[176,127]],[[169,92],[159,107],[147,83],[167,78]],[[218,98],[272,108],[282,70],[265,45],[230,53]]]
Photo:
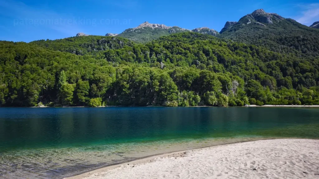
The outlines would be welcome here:
[[[145,21],[220,31],[226,21],[238,21],[261,8],[304,25],[319,21],[318,0],[0,0],[0,40],[121,33]]]

